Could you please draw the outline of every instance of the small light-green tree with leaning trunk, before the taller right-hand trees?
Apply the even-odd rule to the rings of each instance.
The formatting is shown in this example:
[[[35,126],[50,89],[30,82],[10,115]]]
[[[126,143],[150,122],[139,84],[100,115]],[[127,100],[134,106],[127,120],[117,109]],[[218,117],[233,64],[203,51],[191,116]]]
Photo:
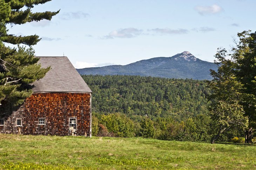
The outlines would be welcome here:
[[[214,143],[224,131],[233,128],[245,130],[248,127],[248,117],[244,116],[243,107],[238,102],[230,104],[220,101],[210,115],[218,130],[211,143]]]

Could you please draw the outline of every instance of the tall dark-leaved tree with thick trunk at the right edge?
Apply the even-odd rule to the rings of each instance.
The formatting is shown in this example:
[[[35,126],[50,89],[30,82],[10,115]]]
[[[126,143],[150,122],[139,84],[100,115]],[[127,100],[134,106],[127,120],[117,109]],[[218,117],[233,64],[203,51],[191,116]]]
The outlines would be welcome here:
[[[253,128],[256,128],[256,32],[243,31],[237,34],[239,42],[233,48],[231,57],[235,60],[234,73],[242,84],[241,93],[245,115],[249,117],[249,128],[245,142],[252,142]]]

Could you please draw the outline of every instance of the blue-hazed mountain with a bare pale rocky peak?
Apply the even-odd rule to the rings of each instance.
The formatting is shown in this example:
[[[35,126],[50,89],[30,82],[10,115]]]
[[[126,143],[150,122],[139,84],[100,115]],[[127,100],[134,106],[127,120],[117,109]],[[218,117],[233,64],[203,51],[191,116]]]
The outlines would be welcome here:
[[[217,70],[213,62],[200,60],[184,51],[172,57],[156,57],[128,65],[112,65],[77,69],[81,75],[140,75],[178,79],[211,80],[210,69]]]

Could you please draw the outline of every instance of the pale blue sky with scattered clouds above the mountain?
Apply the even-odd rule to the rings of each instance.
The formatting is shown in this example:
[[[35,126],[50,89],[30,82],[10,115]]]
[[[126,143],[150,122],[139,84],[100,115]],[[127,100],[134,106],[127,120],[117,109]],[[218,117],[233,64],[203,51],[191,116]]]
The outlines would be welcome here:
[[[75,68],[127,65],[189,51],[213,62],[238,32],[256,31],[255,0],[52,0],[33,12],[51,21],[7,25],[9,34],[39,35],[36,56],[67,56]]]

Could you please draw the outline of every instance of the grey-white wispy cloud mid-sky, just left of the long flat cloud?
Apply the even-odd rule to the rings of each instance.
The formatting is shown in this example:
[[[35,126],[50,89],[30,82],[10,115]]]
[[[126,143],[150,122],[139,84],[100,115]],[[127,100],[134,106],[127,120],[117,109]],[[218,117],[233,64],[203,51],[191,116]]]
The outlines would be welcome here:
[[[114,39],[114,38],[133,38],[141,35],[143,30],[136,28],[124,28],[109,32],[108,35],[102,37],[102,39]]]

